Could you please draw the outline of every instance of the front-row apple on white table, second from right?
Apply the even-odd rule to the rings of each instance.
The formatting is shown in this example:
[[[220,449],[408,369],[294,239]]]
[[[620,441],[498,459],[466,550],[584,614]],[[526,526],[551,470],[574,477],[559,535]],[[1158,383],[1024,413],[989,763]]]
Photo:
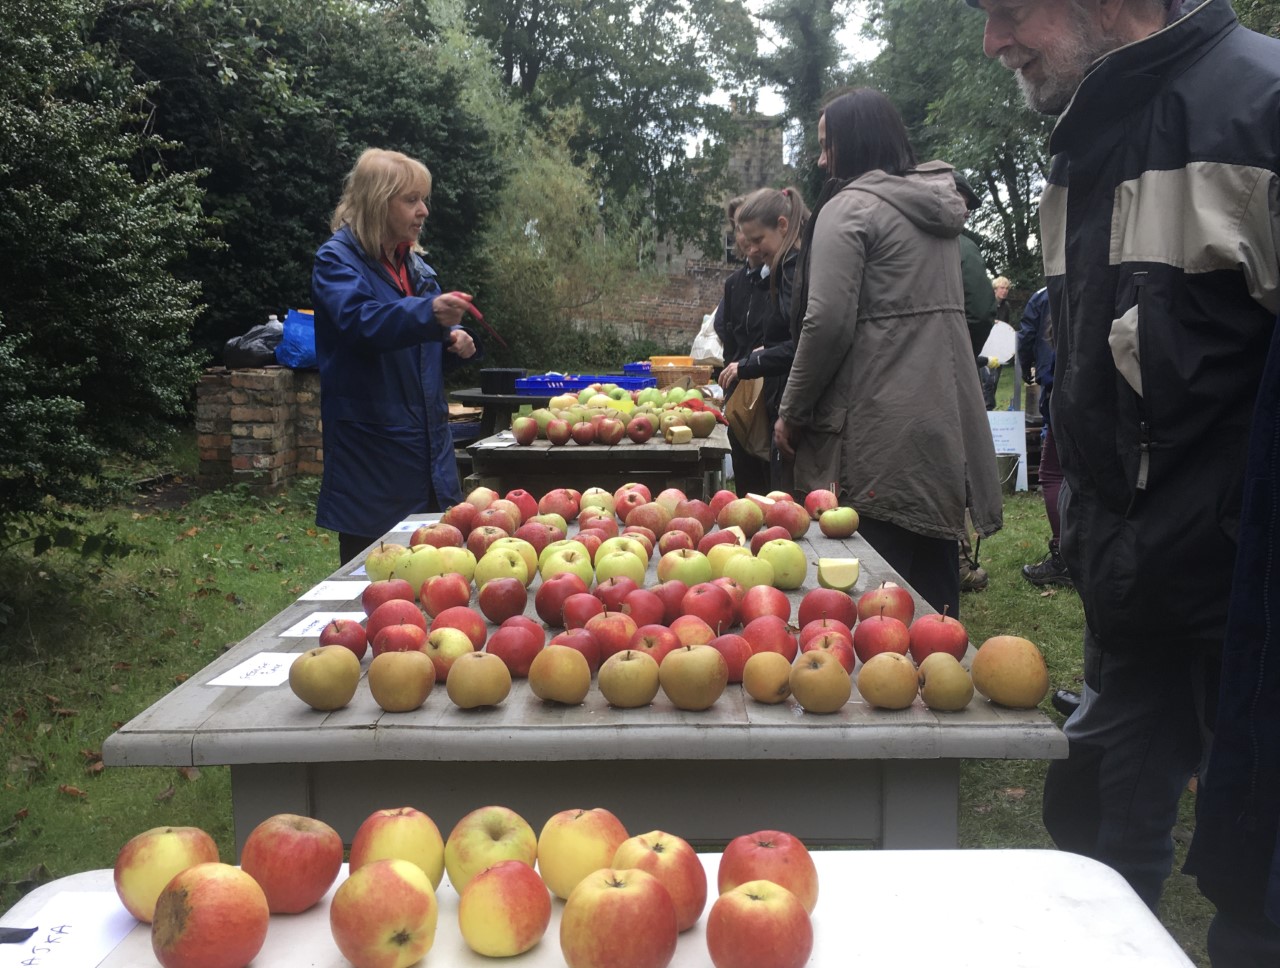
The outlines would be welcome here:
[[[561,913],[568,968],[667,968],[676,954],[676,905],[646,871],[589,872]]]

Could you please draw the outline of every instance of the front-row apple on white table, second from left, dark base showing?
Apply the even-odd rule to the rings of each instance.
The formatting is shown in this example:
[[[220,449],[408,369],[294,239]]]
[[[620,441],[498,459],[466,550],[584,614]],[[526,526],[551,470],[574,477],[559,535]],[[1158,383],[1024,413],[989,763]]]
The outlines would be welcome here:
[[[329,930],[358,968],[408,968],[435,944],[435,887],[408,860],[383,859],[353,869],[333,895]]]

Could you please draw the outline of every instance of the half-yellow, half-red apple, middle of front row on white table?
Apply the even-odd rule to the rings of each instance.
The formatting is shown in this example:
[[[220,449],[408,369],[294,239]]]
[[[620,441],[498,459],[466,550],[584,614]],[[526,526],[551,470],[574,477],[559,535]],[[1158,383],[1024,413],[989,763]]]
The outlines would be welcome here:
[[[552,895],[538,872],[521,860],[499,860],[476,873],[461,892],[462,940],[486,958],[524,954],[552,922]]]

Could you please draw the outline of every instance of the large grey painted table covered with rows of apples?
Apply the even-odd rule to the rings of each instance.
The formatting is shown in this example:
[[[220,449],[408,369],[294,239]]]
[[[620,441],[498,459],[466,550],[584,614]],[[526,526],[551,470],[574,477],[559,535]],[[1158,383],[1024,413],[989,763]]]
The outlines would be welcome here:
[[[855,597],[895,579],[858,535],[803,543],[809,579],[794,602],[813,588],[818,557],[861,560]],[[358,560],[333,579],[356,577],[357,567]],[[925,609],[918,599],[918,613]],[[582,706],[548,706],[517,680],[494,708],[458,709],[438,685],[422,708],[392,714],[365,684],[332,713],[303,706],[287,684],[207,685],[256,653],[315,645],[280,633],[316,611],[358,611],[358,601],[289,606],[109,736],[104,762],[229,764],[239,843],[280,812],[324,818],[349,841],[383,807],[419,807],[448,834],[465,813],[499,803],[535,830],[561,809],[608,807],[628,828],[669,830],[704,845],[781,828],[814,846],[952,848],[961,759],[1066,755],[1043,713],[980,697],[957,713],[919,700],[886,712],[855,690],[838,713],[814,716],[794,702],[762,706],[731,685],[707,712],[678,711],[662,694],[648,708],[621,711],[594,686]]]

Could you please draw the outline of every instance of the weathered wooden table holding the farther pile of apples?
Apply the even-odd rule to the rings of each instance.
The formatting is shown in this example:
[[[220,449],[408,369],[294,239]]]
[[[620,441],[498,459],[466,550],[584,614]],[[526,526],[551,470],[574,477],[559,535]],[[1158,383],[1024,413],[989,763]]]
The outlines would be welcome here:
[[[710,437],[694,438],[687,444],[669,444],[655,434],[643,444],[623,438],[613,447],[572,442],[553,447],[541,439],[521,447],[506,432],[477,440],[467,447],[467,453],[471,476],[463,490],[484,485],[503,494],[511,488],[543,494],[553,488],[585,490],[593,485],[616,490],[639,481],[654,494],[663,488],[680,488],[705,501],[722,484],[728,430],[717,424]]]

